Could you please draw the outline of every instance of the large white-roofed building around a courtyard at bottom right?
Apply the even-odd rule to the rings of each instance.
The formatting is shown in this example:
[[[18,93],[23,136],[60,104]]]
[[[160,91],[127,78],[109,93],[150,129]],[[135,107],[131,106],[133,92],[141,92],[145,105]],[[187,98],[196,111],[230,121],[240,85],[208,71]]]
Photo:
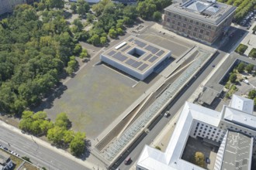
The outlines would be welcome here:
[[[146,145],[137,170],[204,169],[182,159],[189,137],[219,144],[214,169],[251,169],[256,148],[253,107],[253,100],[237,95],[221,112],[185,102],[166,151]]]

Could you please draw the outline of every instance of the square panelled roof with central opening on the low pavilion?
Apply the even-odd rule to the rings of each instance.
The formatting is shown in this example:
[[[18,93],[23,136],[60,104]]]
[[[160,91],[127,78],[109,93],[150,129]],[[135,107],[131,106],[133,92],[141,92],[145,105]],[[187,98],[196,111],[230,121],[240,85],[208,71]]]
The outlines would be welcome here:
[[[105,53],[102,53],[102,56],[106,56],[108,59],[137,73],[147,72],[147,70],[157,66],[164,56],[168,55],[171,55],[170,50],[135,36],[128,37],[118,46],[113,46]]]

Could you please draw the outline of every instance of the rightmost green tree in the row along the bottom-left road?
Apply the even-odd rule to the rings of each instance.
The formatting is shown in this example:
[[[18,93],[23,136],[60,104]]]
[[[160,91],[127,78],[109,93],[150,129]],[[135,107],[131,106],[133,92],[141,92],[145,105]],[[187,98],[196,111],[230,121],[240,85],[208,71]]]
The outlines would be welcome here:
[[[85,133],[76,133],[71,141],[70,148],[73,155],[81,156],[85,152]]]

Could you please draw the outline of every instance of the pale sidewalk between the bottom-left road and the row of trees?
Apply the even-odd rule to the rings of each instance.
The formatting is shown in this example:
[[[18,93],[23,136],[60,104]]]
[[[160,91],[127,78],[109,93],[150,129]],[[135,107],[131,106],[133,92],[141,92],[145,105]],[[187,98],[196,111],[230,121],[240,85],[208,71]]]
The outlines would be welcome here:
[[[53,147],[52,145],[50,145],[46,141],[41,140],[40,138],[36,138],[34,136],[33,136],[33,138],[31,138],[30,134],[22,134],[20,129],[18,129],[16,127],[13,127],[12,125],[6,124],[4,121],[0,121],[0,126],[8,128],[10,131],[13,131],[16,134],[19,134],[19,135],[27,138],[30,141],[36,141],[37,144],[39,144],[39,145],[41,145],[45,148],[49,148],[50,150],[55,151],[58,154],[63,155],[64,157],[69,158],[72,161],[77,162],[80,165],[85,166],[86,168],[94,169],[95,167],[99,167],[99,169],[106,169],[106,168],[103,168],[103,167],[105,167],[105,165],[103,165],[102,162],[98,161],[97,164],[93,164],[91,161],[88,162],[88,160],[87,161],[82,161],[81,159],[75,158],[73,155],[69,154],[67,151],[64,151],[62,149]],[[90,157],[88,159],[92,160],[93,159],[92,157],[93,157],[93,155],[90,155]]]

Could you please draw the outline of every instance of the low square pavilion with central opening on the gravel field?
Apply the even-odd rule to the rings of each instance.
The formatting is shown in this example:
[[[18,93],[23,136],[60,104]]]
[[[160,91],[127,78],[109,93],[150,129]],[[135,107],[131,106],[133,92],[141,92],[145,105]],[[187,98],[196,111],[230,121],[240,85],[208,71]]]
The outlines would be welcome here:
[[[113,46],[102,53],[100,59],[130,76],[144,80],[170,56],[170,50],[130,36],[118,46]]]

